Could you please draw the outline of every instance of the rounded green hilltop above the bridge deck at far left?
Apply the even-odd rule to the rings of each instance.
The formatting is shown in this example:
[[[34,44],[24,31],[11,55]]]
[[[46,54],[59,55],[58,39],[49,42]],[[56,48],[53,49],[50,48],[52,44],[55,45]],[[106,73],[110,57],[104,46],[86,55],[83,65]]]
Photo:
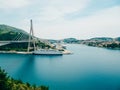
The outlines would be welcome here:
[[[8,25],[0,25],[0,41],[2,40],[13,40],[16,36],[22,34],[24,39],[28,39],[28,33],[22,29],[11,27]]]

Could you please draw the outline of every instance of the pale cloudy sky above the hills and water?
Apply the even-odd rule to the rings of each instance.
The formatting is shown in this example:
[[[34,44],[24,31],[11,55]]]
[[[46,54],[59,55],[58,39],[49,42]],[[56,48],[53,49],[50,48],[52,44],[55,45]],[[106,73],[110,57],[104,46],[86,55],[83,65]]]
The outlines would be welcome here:
[[[120,37],[120,0],[0,0],[0,24],[44,39]]]

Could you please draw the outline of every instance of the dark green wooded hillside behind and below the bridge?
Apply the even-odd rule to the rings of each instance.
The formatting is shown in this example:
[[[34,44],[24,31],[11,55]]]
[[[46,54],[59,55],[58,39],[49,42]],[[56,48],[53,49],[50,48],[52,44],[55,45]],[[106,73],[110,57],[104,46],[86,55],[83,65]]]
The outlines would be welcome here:
[[[0,41],[28,40],[29,34],[22,29],[11,27],[8,25],[0,25]],[[41,42],[36,38],[36,46],[41,48],[50,48],[49,45]],[[27,51],[28,42],[10,43],[0,46],[0,51]],[[33,48],[31,48],[31,51]]]

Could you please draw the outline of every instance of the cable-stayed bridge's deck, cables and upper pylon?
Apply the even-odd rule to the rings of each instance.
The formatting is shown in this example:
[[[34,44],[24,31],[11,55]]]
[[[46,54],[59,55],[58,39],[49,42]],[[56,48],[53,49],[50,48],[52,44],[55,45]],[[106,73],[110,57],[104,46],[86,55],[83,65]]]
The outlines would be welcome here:
[[[48,40],[46,39],[38,39],[34,36],[33,32],[33,25],[32,25],[32,20],[30,21],[31,27],[30,27],[30,33],[22,33],[18,32],[17,35],[11,40],[0,40],[0,46],[7,45],[7,44],[12,44],[12,43],[25,43],[28,42],[28,47],[30,47],[30,43],[35,44],[36,41],[40,40],[41,42],[50,45]],[[34,46],[35,47],[35,46]],[[29,51],[29,50],[28,50]]]

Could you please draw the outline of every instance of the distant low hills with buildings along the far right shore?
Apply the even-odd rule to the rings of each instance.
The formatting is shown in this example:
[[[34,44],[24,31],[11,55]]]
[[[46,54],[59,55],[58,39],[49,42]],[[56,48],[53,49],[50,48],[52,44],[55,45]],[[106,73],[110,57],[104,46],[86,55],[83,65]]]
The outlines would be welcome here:
[[[117,38],[96,37],[96,38],[91,38],[86,40],[77,40],[75,38],[68,38],[68,39],[64,39],[63,41],[65,43],[85,44],[88,46],[120,50],[120,37],[117,37]]]

